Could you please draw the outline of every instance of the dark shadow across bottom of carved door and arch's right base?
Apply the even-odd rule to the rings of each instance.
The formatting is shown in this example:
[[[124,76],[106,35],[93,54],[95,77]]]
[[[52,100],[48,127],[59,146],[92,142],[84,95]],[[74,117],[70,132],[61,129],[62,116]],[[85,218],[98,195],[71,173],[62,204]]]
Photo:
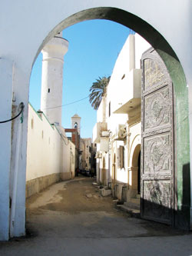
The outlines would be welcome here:
[[[182,191],[177,189],[174,194],[175,201],[178,200],[178,194],[182,193],[182,202],[174,203],[174,208],[166,207],[163,204],[166,198],[162,191],[157,189],[151,197],[154,201],[147,201],[141,198],[141,217],[144,219],[170,224],[174,228],[181,230],[190,230],[190,164],[183,166],[183,186]],[[151,189],[152,190],[152,189]]]

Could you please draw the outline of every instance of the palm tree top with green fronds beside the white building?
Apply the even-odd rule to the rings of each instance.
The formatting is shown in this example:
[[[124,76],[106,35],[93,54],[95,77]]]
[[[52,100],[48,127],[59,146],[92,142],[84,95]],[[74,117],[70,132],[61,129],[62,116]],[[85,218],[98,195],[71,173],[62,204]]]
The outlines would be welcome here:
[[[93,107],[96,110],[98,109],[101,103],[102,97],[106,94],[110,78],[110,76],[108,78],[99,77],[98,79],[96,79],[96,81],[93,82],[93,85],[89,89],[89,91],[91,91],[89,95],[89,102],[91,103],[91,107]]]

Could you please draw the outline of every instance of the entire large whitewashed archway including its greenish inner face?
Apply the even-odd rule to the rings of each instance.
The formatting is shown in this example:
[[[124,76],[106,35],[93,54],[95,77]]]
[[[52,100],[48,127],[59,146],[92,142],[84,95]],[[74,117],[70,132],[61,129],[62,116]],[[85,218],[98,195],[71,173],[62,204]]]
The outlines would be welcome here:
[[[25,6],[26,5],[26,6]],[[177,3],[177,5],[180,5]],[[102,6],[102,7],[101,7]],[[110,7],[113,6],[113,7]],[[189,118],[188,118],[188,95],[187,85],[184,75],[184,71],[180,62],[175,54],[173,48],[177,49],[177,54],[180,56],[185,66],[185,72],[190,80],[190,65],[188,59],[185,60],[186,55],[182,48],[189,50],[190,58],[190,45],[189,41],[190,31],[187,33],[186,27],[180,28],[178,23],[179,19],[174,8],[180,9],[180,15],[185,15],[186,22],[189,22],[187,11],[182,8],[182,5],[176,6],[174,1],[169,3],[157,2],[155,6],[151,5],[150,2],[145,2],[144,8],[138,5],[136,2],[114,2],[108,0],[106,2],[98,1],[78,3],[77,2],[66,2],[58,1],[58,5],[50,3],[49,5],[39,5],[39,2],[33,2],[31,8],[28,3],[22,3],[21,5],[16,4],[12,1],[12,10],[9,10],[9,15],[12,16],[12,21],[9,20],[7,15],[6,4],[2,5],[2,20],[4,21],[5,28],[0,28],[2,35],[1,51],[1,75],[2,75],[2,90],[1,102],[4,108],[1,113],[2,118],[10,118],[12,116],[12,90],[15,93],[15,105],[19,105],[21,101],[25,104],[24,122],[22,125],[22,138],[21,138],[21,152],[18,156],[19,172],[17,181],[17,191],[15,198],[15,227],[13,231],[14,236],[20,236],[25,234],[25,154],[26,154],[26,138],[27,138],[27,105],[28,105],[28,82],[31,72],[32,62],[35,61],[35,56],[41,51],[41,48],[48,42],[48,40],[62,29],[75,23],[94,19],[109,19],[114,22],[119,22],[122,25],[126,25],[132,28],[135,32],[142,35],[154,49],[157,51],[164,61],[164,64],[169,71],[170,77],[174,84],[174,97],[175,106],[174,110],[176,113],[175,118],[175,144],[177,145],[177,151],[175,151],[175,159],[177,162],[177,177],[175,183],[177,183],[177,211],[176,225],[177,227],[189,228],[190,226],[190,183],[187,180],[190,175],[190,144],[189,144]],[[22,7],[22,8],[21,8]],[[25,8],[25,12],[21,13],[21,10]],[[57,12],[55,10],[57,8]],[[162,13],[157,19],[155,10],[159,10]],[[36,12],[36,11],[39,12]],[[55,12],[53,12],[55,10]],[[169,13],[169,17],[164,14],[164,11]],[[153,12],[154,11],[154,12]],[[43,13],[43,15],[41,15]],[[35,17],[35,20],[34,20]],[[188,20],[187,20],[188,18]],[[165,26],[166,22],[170,21],[170,26]],[[27,21],[27,22],[23,22]],[[184,23],[185,24],[185,23]],[[38,25],[38,30],[36,29]],[[39,26],[41,25],[41,26]],[[178,26],[177,26],[178,25]],[[167,28],[169,27],[170,30]],[[30,28],[30,30],[28,29]],[[160,32],[157,32],[157,28]],[[177,37],[175,38],[173,33],[174,28],[177,28]],[[23,33],[25,31],[25,34]],[[170,33],[170,35],[169,35]],[[8,36],[12,35],[15,40],[15,44],[12,45],[12,40],[8,40]],[[35,35],[35,36],[34,36]],[[172,38],[173,35],[173,38]],[[180,38],[185,38],[185,42],[177,47],[176,42],[180,42]],[[170,44],[166,41],[166,39]],[[186,47],[185,47],[186,46]],[[10,61],[11,60],[11,61]],[[13,62],[14,67],[14,79],[12,79]],[[7,79],[8,78],[8,79]],[[12,81],[14,81],[12,89]],[[9,83],[10,82],[10,83]],[[7,100],[9,99],[9,100]],[[8,239],[9,230],[9,173],[10,179],[13,179],[13,167],[15,165],[15,155],[11,151],[15,148],[17,143],[17,131],[12,131],[12,125],[7,124],[2,127],[1,132],[2,148],[5,148],[4,155],[0,157],[2,162],[2,176],[1,176],[1,194],[2,201],[0,201],[0,208],[4,211],[0,213],[0,228],[2,230],[1,240]],[[11,135],[12,141],[10,140]],[[11,171],[10,170],[11,166]],[[186,188],[187,185],[187,188]],[[12,191],[12,187],[10,188]],[[188,191],[187,199],[186,191]],[[182,221],[180,221],[182,219]]]

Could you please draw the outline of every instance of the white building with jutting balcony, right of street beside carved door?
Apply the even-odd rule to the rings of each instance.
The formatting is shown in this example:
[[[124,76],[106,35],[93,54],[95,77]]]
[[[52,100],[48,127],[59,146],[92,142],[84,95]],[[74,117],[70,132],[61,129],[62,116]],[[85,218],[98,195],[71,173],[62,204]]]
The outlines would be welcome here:
[[[140,205],[141,55],[150,47],[140,35],[128,36],[93,130],[98,182],[112,188],[119,200],[134,201],[136,207]]]

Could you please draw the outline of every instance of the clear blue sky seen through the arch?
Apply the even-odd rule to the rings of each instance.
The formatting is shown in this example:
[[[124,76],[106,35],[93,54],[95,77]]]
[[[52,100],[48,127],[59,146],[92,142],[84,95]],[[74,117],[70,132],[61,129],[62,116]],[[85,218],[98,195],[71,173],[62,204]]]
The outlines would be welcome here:
[[[81,116],[81,138],[92,137],[97,112],[91,108],[89,88],[100,76],[111,75],[118,53],[127,39],[129,28],[116,22],[92,20],[65,28],[69,42],[64,63],[62,126],[71,128],[71,116]],[[29,101],[36,110],[41,101],[41,54],[31,72]],[[67,105],[73,101],[77,103]]]

